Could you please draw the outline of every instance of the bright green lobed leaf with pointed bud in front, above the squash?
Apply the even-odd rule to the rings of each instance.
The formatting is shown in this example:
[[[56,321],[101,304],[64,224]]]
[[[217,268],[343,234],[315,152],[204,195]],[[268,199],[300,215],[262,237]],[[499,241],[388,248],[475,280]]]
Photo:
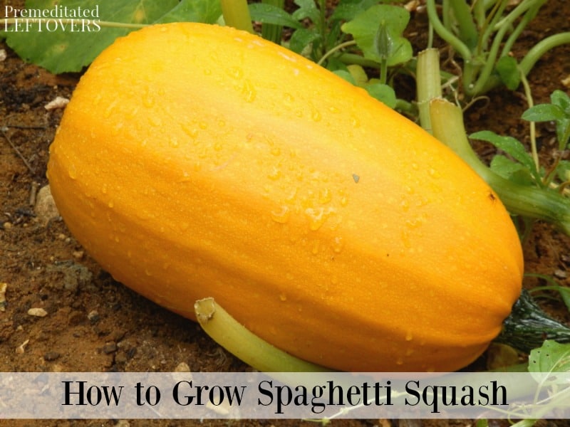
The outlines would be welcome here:
[[[344,23],[342,30],[353,36],[365,58],[394,66],[413,56],[410,41],[403,37],[408,21],[410,13],[403,7],[378,4]]]

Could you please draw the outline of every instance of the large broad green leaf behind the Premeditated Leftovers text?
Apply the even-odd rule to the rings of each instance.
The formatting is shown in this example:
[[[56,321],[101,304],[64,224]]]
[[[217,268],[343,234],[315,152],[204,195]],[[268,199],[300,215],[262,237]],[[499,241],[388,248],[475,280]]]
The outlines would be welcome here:
[[[50,19],[26,23],[26,31],[6,28],[6,43],[24,60],[40,65],[51,73],[80,71],[89,65],[115,38],[135,28],[121,24],[150,24],[168,21],[212,20],[219,0],[27,0],[26,9],[93,11],[93,18],[78,18],[73,23]],[[216,16],[219,16],[219,13]],[[73,18],[73,16],[63,16]],[[113,28],[105,22],[113,23]],[[119,25],[115,25],[119,24]],[[20,23],[20,25],[24,25]]]

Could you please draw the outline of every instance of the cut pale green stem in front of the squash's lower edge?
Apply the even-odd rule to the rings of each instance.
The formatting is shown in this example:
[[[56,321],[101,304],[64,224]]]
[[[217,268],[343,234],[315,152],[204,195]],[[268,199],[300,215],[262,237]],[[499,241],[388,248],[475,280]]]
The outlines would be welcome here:
[[[247,330],[214,298],[194,305],[199,325],[209,337],[249,366],[261,372],[330,372],[331,369],[291,356]]]

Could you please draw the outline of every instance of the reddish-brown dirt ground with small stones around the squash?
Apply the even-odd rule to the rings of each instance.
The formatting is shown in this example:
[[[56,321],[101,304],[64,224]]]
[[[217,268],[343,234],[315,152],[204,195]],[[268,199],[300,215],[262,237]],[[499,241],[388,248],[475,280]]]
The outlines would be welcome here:
[[[0,2],[4,9],[4,2]],[[566,13],[564,13],[566,11]],[[567,0],[550,0],[514,49],[520,57],[544,36],[570,31]],[[408,37],[415,51],[425,46],[426,16],[413,15]],[[47,184],[48,147],[63,114],[46,110],[58,96],[71,97],[79,75],[51,75],[20,60],[3,42],[0,61],[0,305],[1,371],[243,371],[248,367],[214,344],[195,324],[128,290],[101,270],[71,236],[63,221],[43,223],[36,214],[37,190]],[[442,53],[445,58],[446,53]],[[555,48],[539,61],[529,81],[536,103],[548,102],[570,76],[570,46]],[[409,90],[402,83],[400,90]],[[528,141],[528,125],[519,120],[526,102],[516,92],[497,90],[470,107],[469,132],[493,130]],[[554,129],[538,125],[541,155],[551,161]],[[488,155],[489,147],[480,147]],[[569,285],[570,238],[537,224],[524,243],[527,273],[550,275]],[[538,281],[528,278],[526,287]],[[570,323],[560,300],[541,300],[544,309]],[[28,314],[45,310],[44,317]],[[484,367],[486,355],[475,367]],[[395,421],[395,425],[405,425]],[[423,425],[410,421],[412,426]],[[227,421],[19,421],[15,426],[225,426]],[[312,425],[289,421],[240,421],[240,426]],[[440,421],[437,425],[447,425]],[[470,421],[449,422],[470,425]],[[503,425],[504,423],[497,423]],[[562,426],[564,421],[542,423]],[[334,421],[333,426],[390,425],[386,421]],[[433,423],[432,423],[433,425]]]

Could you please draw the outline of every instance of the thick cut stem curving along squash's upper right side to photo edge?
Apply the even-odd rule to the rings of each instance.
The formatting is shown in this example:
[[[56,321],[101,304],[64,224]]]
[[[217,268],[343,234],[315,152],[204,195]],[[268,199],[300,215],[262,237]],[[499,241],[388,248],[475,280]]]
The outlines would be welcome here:
[[[460,107],[435,99],[431,102],[430,113],[433,135],[487,181],[511,214],[549,221],[570,236],[569,199],[556,191],[523,186],[492,172],[480,161],[467,139]]]

